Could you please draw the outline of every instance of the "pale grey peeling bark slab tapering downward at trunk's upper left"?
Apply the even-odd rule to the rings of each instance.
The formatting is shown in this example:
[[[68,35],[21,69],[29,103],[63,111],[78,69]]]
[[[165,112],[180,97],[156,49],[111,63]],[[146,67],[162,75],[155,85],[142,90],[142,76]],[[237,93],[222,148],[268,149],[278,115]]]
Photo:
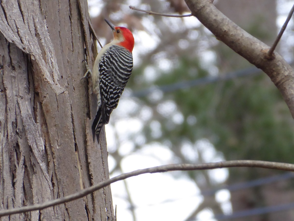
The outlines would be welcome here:
[[[39,2],[17,0],[2,3],[0,31],[4,37],[36,60],[39,74],[56,94],[64,92],[57,80],[60,78],[53,44],[46,29],[46,20],[41,18]],[[24,4],[24,5],[22,5]],[[6,21],[6,22],[5,22]],[[43,57],[44,56],[44,57]]]

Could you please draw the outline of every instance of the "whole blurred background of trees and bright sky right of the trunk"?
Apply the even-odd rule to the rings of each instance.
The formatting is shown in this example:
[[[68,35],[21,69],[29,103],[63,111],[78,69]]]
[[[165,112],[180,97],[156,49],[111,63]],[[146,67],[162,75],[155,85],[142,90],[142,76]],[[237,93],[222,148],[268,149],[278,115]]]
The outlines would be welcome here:
[[[127,26],[135,37],[133,74],[106,126],[112,176],[169,163],[235,159],[294,163],[293,119],[263,72],[218,42],[195,17],[153,16],[128,8],[188,14],[183,0],[88,3],[103,45],[112,38],[104,18]],[[223,14],[268,45],[291,4],[215,0]],[[279,51],[292,62],[289,29]],[[273,209],[293,202],[293,175],[260,184],[260,178],[274,174],[252,168],[174,172],[128,179],[111,188],[118,214],[125,220],[293,220],[293,205]],[[252,180],[260,183],[248,183]],[[176,190],[177,181],[181,185]],[[230,188],[236,183],[243,186]],[[194,198],[187,198],[185,191]],[[156,208],[166,208],[161,209],[164,218]]]

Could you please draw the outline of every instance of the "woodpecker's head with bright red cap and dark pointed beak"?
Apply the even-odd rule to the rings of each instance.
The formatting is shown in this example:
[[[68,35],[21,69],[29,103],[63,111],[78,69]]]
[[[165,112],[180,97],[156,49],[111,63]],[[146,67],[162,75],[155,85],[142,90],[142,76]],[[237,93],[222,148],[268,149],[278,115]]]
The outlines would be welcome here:
[[[125,27],[116,27],[111,22],[104,19],[113,31],[113,43],[125,47],[130,52],[134,48],[134,37],[132,32]]]

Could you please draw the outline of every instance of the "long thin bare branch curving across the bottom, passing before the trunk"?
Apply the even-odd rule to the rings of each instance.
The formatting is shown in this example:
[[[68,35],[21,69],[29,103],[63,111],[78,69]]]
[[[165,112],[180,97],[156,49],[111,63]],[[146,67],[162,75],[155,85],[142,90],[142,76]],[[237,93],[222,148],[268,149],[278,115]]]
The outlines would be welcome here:
[[[231,161],[222,161],[216,163],[204,163],[204,164],[169,164],[164,166],[150,167],[146,169],[139,169],[125,174],[118,175],[111,179],[103,180],[102,182],[82,189],[74,194],[71,194],[66,197],[61,197],[59,199],[50,200],[41,204],[34,204],[31,206],[24,206],[20,208],[0,210],[0,217],[17,214],[21,212],[29,212],[34,210],[43,210],[45,208],[56,206],[58,204],[66,203],[73,201],[75,199],[82,198],[88,194],[93,193],[94,191],[108,186],[111,183],[114,183],[119,180],[123,180],[129,177],[134,177],[140,174],[146,173],[161,173],[167,171],[185,171],[185,170],[203,170],[203,169],[216,169],[216,168],[228,168],[228,167],[258,167],[258,168],[267,168],[267,169],[278,169],[286,171],[294,171],[294,164],[287,163],[278,163],[278,162],[269,162],[269,161],[259,161],[259,160],[231,160]]]

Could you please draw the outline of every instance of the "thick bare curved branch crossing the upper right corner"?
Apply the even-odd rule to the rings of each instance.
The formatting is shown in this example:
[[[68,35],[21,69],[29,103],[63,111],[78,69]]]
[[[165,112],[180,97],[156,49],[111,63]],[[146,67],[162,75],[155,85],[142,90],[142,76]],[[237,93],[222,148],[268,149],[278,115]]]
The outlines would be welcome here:
[[[294,118],[294,70],[278,53],[267,58],[270,47],[222,14],[211,0],[185,0],[188,8],[218,40],[263,70],[279,89]]]

